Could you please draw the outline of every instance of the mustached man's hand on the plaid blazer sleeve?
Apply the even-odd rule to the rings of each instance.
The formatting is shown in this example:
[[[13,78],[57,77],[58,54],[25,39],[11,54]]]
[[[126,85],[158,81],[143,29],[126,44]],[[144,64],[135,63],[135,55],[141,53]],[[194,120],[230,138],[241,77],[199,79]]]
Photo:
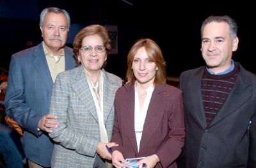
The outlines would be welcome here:
[[[51,133],[51,128],[57,128],[59,123],[56,121],[57,116],[54,114],[47,114],[38,122],[38,128],[45,132]]]

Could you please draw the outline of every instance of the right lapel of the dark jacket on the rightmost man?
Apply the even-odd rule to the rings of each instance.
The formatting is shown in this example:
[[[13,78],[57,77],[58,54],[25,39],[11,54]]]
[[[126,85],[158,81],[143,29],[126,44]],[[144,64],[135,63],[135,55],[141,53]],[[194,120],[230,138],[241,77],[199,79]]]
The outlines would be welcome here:
[[[237,77],[233,90],[227,96],[225,103],[221,107],[220,111],[216,114],[209,127],[215,125],[223,118],[226,118],[228,115],[232,114],[232,112],[239,109],[239,107],[246,103],[252,96],[252,84],[244,74],[243,67],[240,66],[240,68],[241,72]]]

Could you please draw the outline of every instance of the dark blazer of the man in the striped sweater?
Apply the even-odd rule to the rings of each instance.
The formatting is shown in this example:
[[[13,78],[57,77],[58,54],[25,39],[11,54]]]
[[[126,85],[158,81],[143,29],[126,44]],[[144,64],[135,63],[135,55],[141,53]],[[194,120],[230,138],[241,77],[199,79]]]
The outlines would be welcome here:
[[[239,67],[234,88],[208,126],[200,90],[205,66],[180,75],[186,125],[180,158],[186,166],[180,167],[256,167],[256,77]]]

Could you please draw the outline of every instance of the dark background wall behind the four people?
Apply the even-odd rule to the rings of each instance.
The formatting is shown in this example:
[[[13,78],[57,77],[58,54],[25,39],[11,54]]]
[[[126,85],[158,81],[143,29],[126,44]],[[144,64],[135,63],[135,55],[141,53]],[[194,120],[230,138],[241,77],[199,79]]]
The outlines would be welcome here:
[[[118,26],[118,54],[108,57],[106,69],[122,78],[125,77],[127,53],[138,38],[152,38],[159,44],[170,76],[179,77],[184,70],[204,65],[200,53],[202,21],[209,15],[230,15],[239,26],[239,49],[233,58],[256,73],[252,61],[256,39],[252,26],[255,9],[252,3],[245,1],[236,4],[234,1],[179,1],[175,4],[170,1],[167,4],[166,0],[0,0],[0,67],[8,70],[13,53],[42,41],[39,15],[42,9],[50,6],[67,10],[74,27],[77,24]],[[77,31],[77,27],[73,28],[70,34]],[[70,47],[72,38],[73,35],[68,36]]]

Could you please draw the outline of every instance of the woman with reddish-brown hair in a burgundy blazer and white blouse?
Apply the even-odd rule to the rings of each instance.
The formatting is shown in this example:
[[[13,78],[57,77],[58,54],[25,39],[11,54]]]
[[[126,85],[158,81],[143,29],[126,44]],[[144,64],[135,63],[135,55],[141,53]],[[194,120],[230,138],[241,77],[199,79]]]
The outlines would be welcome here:
[[[116,91],[112,162],[125,167],[127,158],[143,158],[137,165],[177,167],[184,145],[182,92],[165,84],[165,61],[156,42],[140,39],[127,56],[129,81]]]

